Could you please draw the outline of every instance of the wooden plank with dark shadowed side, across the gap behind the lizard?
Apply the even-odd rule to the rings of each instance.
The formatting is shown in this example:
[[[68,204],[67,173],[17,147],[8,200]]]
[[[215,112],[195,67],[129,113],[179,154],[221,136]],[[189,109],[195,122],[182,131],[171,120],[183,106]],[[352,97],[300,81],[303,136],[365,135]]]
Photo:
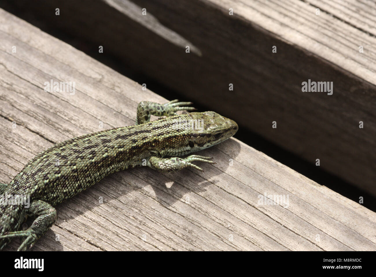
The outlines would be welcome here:
[[[33,20],[85,38],[93,45],[93,51],[86,48],[90,53],[103,45],[124,67],[149,75],[208,110],[220,108],[243,128],[311,162],[312,170],[320,159],[323,170],[376,196],[374,2],[38,3],[3,5],[34,11]],[[61,9],[58,17],[56,7]],[[147,15],[141,14],[142,8]],[[189,54],[186,45],[191,46]],[[333,95],[302,92],[308,79],[332,81]],[[230,92],[229,83],[234,87]],[[271,128],[273,121],[277,129]],[[359,121],[364,129],[359,129]]]

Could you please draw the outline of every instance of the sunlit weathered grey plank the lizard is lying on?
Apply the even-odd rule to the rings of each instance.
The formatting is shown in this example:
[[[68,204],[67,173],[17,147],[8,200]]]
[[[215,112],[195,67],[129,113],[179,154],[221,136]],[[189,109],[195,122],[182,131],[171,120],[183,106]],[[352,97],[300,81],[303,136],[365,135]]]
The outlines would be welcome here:
[[[1,9],[0,41],[0,182],[100,121],[133,124],[141,100],[166,101]],[[50,79],[76,82],[75,94],[45,92]],[[32,249],[376,250],[376,214],[362,205],[237,139],[201,154],[217,162],[205,173],[142,167],[103,179],[58,205],[58,221]],[[258,204],[265,193],[288,196],[288,207]]]

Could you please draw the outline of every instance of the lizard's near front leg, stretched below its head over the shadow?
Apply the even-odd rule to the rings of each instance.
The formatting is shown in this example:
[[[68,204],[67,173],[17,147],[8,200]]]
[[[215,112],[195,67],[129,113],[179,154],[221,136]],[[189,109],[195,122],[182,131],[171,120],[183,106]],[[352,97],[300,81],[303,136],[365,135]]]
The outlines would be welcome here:
[[[173,158],[166,158],[166,159],[153,156],[149,159],[149,161],[147,162],[147,165],[150,168],[153,168],[158,171],[176,171],[176,170],[182,170],[185,167],[194,167],[200,171],[203,171],[202,168],[198,167],[192,162],[200,161],[200,162],[207,162],[208,164],[215,164],[215,162],[210,161],[211,159],[213,158],[198,156],[198,155],[190,155],[186,158],[173,157]]]

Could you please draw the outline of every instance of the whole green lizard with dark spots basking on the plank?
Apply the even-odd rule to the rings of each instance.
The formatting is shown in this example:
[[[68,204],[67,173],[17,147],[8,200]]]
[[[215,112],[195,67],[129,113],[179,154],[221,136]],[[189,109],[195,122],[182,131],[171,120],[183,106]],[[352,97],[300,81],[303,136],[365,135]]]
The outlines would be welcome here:
[[[36,155],[8,185],[0,185],[0,196],[30,199],[30,207],[18,205],[22,202],[0,204],[0,249],[14,237],[24,238],[18,251],[31,247],[55,223],[53,206],[110,173],[141,165],[159,171],[185,167],[203,171],[193,162],[215,164],[211,157],[178,156],[230,138],[238,125],[215,112],[177,115],[180,110],[194,110],[180,107],[191,104],[178,100],[166,104],[143,101],[137,107],[136,125],[72,138]],[[150,115],[167,117],[150,122]],[[27,216],[35,220],[27,230],[18,231]]]

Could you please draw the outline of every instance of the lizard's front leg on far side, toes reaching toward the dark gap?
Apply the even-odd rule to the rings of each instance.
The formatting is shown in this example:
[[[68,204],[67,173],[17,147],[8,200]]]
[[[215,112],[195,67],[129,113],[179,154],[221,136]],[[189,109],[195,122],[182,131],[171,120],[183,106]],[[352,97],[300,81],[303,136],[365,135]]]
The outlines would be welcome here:
[[[173,116],[177,115],[179,110],[196,110],[194,107],[179,107],[183,105],[191,105],[192,102],[178,102],[175,99],[165,104],[155,102],[141,101],[137,106],[136,125],[150,121],[150,115],[155,116]]]

